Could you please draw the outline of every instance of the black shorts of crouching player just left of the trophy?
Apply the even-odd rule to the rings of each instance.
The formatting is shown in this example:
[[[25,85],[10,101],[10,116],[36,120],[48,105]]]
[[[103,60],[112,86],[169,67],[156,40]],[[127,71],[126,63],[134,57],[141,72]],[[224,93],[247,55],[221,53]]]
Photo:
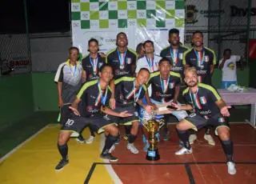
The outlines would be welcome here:
[[[117,106],[114,109],[115,112],[122,112],[122,111],[128,111],[128,113],[133,114],[133,116],[127,117],[127,118],[117,118],[119,125],[131,125],[133,122],[139,122],[138,119],[138,110],[136,110],[135,106]]]

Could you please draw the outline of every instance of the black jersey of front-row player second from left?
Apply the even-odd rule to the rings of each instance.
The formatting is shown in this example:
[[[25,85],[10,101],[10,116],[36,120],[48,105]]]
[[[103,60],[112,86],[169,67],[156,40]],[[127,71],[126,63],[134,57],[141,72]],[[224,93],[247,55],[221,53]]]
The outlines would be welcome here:
[[[122,77],[114,81],[117,103],[134,104],[145,96],[146,86],[143,85],[135,89],[135,79],[134,77]]]

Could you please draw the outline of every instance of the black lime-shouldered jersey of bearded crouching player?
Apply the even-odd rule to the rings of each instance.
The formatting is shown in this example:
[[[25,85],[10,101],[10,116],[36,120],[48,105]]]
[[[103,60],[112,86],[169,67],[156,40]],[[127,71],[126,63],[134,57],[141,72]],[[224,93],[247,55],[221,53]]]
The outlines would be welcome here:
[[[193,94],[189,88],[183,91],[183,96],[191,106],[193,106],[194,113],[202,117],[212,117],[215,114],[220,114],[220,110],[215,102],[221,99],[218,91],[210,85],[198,83],[198,91]]]

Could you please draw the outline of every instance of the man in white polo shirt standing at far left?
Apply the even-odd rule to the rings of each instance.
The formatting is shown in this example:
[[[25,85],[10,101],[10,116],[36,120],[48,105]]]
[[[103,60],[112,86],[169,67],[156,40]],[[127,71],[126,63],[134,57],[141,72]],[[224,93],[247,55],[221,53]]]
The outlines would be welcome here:
[[[70,106],[74,101],[76,94],[82,82],[85,82],[85,73],[82,65],[78,62],[79,50],[77,47],[70,47],[70,57],[66,62],[58,66],[55,74],[54,82],[58,83],[58,107],[60,108],[60,117],[63,117],[65,106]],[[63,122],[60,120],[60,122]],[[82,134],[79,133],[78,142],[85,142]]]

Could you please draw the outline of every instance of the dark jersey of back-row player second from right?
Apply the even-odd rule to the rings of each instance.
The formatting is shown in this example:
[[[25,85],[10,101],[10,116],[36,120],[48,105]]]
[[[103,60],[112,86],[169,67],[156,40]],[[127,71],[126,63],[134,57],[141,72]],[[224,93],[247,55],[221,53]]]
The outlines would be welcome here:
[[[171,46],[166,47],[160,53],[162,58],[166,57],[170,59],[170,62],[173,64],[172,71],[178,72],[181,76],[183,76],[183,65],[182,58],[183,53],[187,50],[184,46],[178,46],[178,50],[173,50]]]

